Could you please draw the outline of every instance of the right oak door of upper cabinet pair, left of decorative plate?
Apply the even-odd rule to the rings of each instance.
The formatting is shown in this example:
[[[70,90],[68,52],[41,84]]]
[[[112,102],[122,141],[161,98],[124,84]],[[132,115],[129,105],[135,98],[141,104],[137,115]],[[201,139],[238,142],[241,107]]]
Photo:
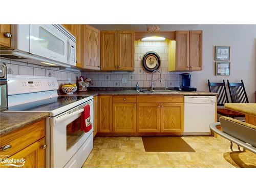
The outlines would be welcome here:
[[[134,31],[118,31],[118,70],[134,70]]]

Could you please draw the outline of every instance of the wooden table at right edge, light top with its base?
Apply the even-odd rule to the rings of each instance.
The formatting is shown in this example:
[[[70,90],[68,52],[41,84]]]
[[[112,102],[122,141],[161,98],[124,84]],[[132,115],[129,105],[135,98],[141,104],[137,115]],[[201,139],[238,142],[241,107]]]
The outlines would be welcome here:
[[[226,109],[245,114],[245,122],[256,125],[256,103],[225,103]]]

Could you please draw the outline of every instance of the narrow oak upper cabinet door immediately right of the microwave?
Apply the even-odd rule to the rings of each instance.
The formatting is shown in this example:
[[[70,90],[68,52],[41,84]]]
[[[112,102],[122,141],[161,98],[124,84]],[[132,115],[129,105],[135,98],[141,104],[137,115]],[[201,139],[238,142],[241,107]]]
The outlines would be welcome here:
[[[71,33],[76,37],[76,67],[84,68],[83,66],[83,29],[82,25],[71,25]]]

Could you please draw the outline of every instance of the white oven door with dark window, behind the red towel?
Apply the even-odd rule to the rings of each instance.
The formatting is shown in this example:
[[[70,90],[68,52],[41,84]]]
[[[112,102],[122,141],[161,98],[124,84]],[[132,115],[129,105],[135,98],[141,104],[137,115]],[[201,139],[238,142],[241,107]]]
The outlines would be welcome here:
[[[87,104],[90,104],[92,129],[84,133],[84,131],[80,131],[81,113]],[[51,166],[64,167],[92,132],[93,100],[51,118]]]

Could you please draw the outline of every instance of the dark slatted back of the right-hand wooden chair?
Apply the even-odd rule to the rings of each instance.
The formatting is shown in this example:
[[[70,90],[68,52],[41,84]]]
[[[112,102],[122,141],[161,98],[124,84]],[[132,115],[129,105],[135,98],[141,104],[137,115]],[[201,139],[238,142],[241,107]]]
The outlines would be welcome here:
[[[227,80],[227,85],[232,103],[249,103],[243,80],[241,83]]]

